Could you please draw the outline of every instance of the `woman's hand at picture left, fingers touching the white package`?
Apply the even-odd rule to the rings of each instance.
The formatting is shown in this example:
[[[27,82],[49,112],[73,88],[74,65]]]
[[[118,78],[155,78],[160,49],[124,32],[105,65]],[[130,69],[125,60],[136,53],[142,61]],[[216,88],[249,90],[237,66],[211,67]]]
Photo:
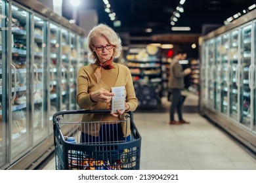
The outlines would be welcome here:
[[[104,88],[100,88],[100,90],[91,92],[91,99],[95,102],[109,103],[114,95],[114,93],[111,93]]]

